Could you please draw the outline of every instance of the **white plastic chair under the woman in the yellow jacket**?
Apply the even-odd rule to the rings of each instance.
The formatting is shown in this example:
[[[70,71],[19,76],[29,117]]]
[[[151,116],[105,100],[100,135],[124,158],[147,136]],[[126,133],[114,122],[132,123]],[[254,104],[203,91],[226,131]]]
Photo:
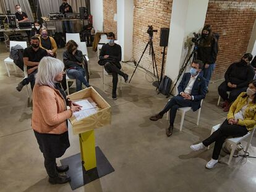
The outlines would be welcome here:
[[[213,126],[213,128],[211,129],[211,134],[214,131],[218,130],[218,128],[220,128],[220,126],[221,126],[221,124]],[[229,160],[228,160],[228,165],[230,165],[230,163],[231,163],[231,160],[232,160],[233,155],[234,155],[234,151],[236,150],[237,143],[240,143],[242,140],[245,140],[247,137],[249,137],[249,141],[247,142],[247,146],[246,146],[245,152],[248,151],[249,146],[250,146],[250,142],[252,141],[252,136],[254,136],[254,131],[255,131],[255,128],[252,131],[249,131],[244,136],[227,139],[232,144],[232,150],[230,152],[230,156],[229,156]],[[210,146],[208,146],[208,149],[209,148],[210,148]]]

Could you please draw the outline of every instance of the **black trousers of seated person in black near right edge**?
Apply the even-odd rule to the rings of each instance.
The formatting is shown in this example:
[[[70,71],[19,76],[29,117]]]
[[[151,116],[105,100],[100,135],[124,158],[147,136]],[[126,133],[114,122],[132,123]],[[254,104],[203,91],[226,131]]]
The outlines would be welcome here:
[[[224,101],[233,102],[236,100],[237,96],[239,96],[240,93],[245,92],[246,89],[247,87],[230,88],[228,86],[228,83],[224,81],[223,83],[221,83],[220,86],[218,86],[218,93]],[[229,96],[227,94],[227,91],[230,91]]]

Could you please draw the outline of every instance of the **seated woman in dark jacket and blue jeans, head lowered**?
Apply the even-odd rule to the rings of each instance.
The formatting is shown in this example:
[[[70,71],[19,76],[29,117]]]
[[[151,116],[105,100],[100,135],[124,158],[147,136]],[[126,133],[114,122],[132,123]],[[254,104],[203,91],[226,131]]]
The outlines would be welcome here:
[[[89,87],[89,83],[85,79],[85,69],[83,69],[83,54],[78,50],[78,45],[73,40],[69,40],[66,44],[66,51],[63,53],[63,61],[69,78],[75,79],[77,91],[82,90],[83,85]]]

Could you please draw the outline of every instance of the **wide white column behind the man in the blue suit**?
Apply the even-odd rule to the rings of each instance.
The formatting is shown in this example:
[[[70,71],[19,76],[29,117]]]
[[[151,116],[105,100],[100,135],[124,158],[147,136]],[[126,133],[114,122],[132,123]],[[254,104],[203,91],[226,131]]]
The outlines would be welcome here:
[[[173,0],[165,75],[176,80],[187,50],[184,43],[205,23],[208,0]],[[175,83],[175,81],[174,81]]]

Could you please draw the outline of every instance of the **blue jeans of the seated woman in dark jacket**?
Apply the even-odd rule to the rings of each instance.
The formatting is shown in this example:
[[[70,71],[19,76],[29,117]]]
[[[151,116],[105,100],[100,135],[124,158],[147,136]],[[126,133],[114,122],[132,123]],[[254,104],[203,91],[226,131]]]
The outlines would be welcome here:
[[[69,78],[75,79],[77,91],[82,90],[82,83],[87,87],[89,86],[89,83],[85,79],[85,70],[82,67],[76,67],[76,69],[67,69],[66,73]]]

